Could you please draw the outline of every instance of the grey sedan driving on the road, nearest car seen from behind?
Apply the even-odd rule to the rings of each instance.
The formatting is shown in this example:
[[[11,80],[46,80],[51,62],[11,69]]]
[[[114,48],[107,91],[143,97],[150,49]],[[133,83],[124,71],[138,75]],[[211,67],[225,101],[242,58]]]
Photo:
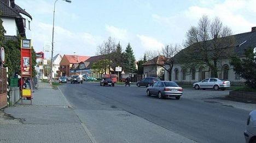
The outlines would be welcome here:
[[[153,86],[147,88],[147,95],[156,95],[158,98],[175,97],[179,100],[183,94],[183,89],[175,82],[171,81],[156,81]]]

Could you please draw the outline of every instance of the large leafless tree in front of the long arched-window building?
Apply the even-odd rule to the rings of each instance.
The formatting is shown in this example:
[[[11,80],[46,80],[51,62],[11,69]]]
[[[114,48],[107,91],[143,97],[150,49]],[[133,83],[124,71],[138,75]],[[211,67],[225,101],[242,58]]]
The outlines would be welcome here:
[[[218,77],[218,64],[222,59],[229,58],[234,53],[230,46],[234,46],[231,29],[223,26],[218,17],[211,22],[203,15],[197,27],[192,26],[187,32],[187,40],[177,56],[179,63],[185,67],[207,65],[211,69],[211,76]]]

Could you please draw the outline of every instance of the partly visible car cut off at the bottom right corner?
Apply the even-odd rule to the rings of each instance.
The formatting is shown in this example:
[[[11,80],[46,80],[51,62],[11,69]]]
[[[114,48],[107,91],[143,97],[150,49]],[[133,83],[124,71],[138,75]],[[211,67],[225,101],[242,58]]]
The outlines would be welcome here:
[[[247,143],[256,143],[256,110],[249,113],[246,130],[243,134]]]

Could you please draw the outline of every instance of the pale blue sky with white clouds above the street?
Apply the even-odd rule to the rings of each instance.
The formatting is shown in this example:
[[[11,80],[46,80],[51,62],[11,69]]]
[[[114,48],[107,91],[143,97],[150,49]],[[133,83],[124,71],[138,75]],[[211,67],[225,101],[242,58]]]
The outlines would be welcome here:
[[[32,16],[32,46],[44,52],[51,43],[55,0],[16,0]],[[111,37],[136,60],[166,45],[183,47],[186,33],[200,18],[219,17],[233,34],[256,27],[256,0],[59,0],[55,5],[54,55],[94,56]],[[45,52],[51,58],[51,52]]]

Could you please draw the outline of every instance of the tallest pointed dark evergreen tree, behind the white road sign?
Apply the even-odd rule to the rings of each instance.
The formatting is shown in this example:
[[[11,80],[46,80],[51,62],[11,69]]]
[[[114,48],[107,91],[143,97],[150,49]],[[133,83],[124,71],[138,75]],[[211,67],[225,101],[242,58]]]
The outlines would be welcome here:
[[[129,73],[137,72],[135,61],[136,59],[129,42],[124,52],[123,70]]]

